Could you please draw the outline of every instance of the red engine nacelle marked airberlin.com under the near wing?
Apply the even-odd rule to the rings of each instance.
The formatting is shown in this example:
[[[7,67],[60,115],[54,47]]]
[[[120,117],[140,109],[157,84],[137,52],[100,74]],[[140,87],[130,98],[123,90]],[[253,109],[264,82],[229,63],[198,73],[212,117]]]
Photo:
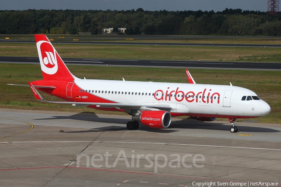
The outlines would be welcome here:
[[[133,120],[152,128],[167,128],[171,124],[171,114],[164,110],[143,111],[141,115],[133,116]]]

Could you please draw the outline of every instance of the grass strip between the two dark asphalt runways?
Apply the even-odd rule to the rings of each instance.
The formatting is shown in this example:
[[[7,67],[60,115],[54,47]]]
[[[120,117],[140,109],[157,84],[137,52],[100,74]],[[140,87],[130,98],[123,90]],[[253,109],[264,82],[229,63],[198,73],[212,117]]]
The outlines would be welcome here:
[[[138,60],[281,62],[272,47],[53,44],[61,57]],[[0,56],[38,56],[35,44],[0,43]]]

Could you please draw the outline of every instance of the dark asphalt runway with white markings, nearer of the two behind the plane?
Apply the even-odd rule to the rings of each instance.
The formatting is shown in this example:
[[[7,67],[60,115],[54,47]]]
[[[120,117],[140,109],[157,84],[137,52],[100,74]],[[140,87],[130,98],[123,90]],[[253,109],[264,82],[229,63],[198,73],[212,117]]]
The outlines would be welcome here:
[[[281,70],[281,63],[223,62],[223,61],[176,61],[176,60],[120,60],[62,58],[67,65],[98,65],[127,67],[193,68],[213,70]],[[39,64],[38,57],[0,56],[0,63]]]

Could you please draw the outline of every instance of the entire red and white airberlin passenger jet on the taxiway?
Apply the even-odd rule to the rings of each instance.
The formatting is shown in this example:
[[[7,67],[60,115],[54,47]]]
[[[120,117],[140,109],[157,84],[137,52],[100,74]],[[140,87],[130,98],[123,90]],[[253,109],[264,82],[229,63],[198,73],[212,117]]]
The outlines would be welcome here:
[[[237,118],[265,116],[271,110],[249,89],[231,83],[195,84],[188,70],[191,84],[79,79],[67,69],[45,35],[35,35],[35,39],[43,80],[21,86],[30,86],[41,102],[128,113],[132,115],[132,121],[127,123],[129,130],[137,129],[139,122],[152,128],[167,128],[172,116],[190,116],[200,121],[229,118],[230,132],[237,132]],[[46,101],[37,89],[66,102]]]

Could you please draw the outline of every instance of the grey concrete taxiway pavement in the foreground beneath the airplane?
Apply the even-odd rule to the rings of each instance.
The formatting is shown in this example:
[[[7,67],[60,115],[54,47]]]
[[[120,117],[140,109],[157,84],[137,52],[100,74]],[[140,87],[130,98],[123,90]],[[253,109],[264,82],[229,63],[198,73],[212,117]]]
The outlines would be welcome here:
[[[281,184],[280,124],[231,133],[229,122],[173,118],[129,131],[130,119],[0,109],[0,187]]]

